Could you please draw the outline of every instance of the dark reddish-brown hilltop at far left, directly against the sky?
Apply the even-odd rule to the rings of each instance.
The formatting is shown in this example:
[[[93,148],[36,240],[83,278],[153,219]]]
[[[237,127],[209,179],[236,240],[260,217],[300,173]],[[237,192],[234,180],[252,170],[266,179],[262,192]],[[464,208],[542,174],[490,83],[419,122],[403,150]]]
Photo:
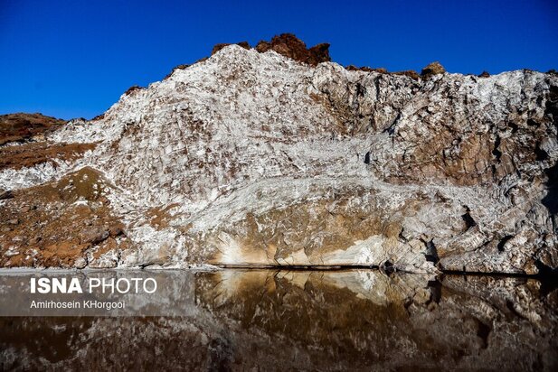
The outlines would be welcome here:
[[[36,135],[44,135],[66,124],[65,120],[42,114],[0,115],[0,145],[24,142]]]

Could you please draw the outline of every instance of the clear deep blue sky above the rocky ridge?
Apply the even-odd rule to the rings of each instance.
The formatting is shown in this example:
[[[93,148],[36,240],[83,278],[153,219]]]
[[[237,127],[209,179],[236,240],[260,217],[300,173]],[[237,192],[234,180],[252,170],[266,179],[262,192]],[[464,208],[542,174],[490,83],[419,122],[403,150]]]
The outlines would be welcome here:
[[[343,65],[558,69],[558,1],[0,0],[0,114],[96,116],[217,42],[296,33]]]

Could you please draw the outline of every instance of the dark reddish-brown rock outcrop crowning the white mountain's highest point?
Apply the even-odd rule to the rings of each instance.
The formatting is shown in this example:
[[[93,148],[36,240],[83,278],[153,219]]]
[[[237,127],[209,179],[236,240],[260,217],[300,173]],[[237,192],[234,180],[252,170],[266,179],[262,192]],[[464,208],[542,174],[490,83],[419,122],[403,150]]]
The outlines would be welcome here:
[[[331,60],[328,43],[317,44],[307,49],[306,44],[292,33],[281,33],[278,36],[274,36],[270,42],[260,41],[255,49],[260,51],[260,53],[277,51],[285,57],[307,63],[311,66]]]

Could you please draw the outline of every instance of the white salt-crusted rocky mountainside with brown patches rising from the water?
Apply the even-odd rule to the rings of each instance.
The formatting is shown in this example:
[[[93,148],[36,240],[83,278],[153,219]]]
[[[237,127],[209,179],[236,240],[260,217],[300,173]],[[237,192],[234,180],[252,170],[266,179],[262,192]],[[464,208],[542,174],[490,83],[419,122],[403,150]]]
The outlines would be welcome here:
[[[0,263],[556,269],[558,78],[439,67],[224,46],[47,135],[79,160],[0,172]]]

